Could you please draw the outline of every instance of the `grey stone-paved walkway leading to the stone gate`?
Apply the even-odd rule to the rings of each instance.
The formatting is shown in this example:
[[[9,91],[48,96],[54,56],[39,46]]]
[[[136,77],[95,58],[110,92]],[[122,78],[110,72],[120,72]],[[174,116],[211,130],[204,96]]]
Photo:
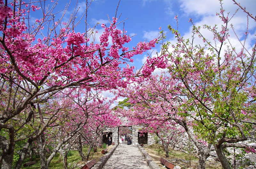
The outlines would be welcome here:
[[[120,144],[103,169],[150,169],[137,145]]]

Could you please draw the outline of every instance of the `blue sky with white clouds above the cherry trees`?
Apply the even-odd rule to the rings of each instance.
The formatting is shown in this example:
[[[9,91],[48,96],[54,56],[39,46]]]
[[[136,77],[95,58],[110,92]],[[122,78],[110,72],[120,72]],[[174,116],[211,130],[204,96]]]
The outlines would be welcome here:
[[[56,0],[54,1],[56,2]],[[47,3],[48,2],[51,3],[50,0],[48,0]],[[68,2],[68,0],[59,0],[56,10],[64,9]],[[237,2],[241,3],[242,6],[245,6],[246,10],[254,16],[256,15],[256,13],[253,13],[256,7],[256,0],[237,0]],[[238,9],[238,6],[236,6],[232,0],[223,0],[222,3],[226,12],[230,11],[229,15],[232,15],[236,9]],[[73,0],[68,12],[66,13],[64,21],[65,19],[68,19],[69,15],[74,10],[75,4],[76,0]],[[117,4],[118,0],[94,0],[88,10],[87,23],[91,27],[93,27],[97,22],[109,25],[108,16],[110,19],[115,16]],[[77,6],[80,7],[80,10],[78,11],[79,17],[85,10],[85,0],[78,0]],[[159,27],[162,27],[162,30],[164,31],[167,31],[168,25],[176,28],[176,20],[174,19],[175,15],[178,15],[179,18],[178,30],[186,39],[191,37],[192,30],[191,24],[188,23],[189,18],[193,18],[196,25],[202,26],[204,24],[217,24],[220,27],[223,22],[216,16],[216,12],[220,12],[219,0],[121,0],[117,16],[122,14],[119,21],[128,18],[125,20],[124,28],[129,35],[136,34],[132,37],[132,41],[127,45],[127,47],[131,48],[132,46],[136,46],[140,41],[156,38],[159,33]],[[56,17],[60,17],[60,15],[56,15]],[[239,10],[231,23],[236,28],[238,38],[243,40],[247,25],[246,14],[242,10]],[[96,37],[99,37],[103,31],[100,24],[96,27],[99,31]],[[246,44],[248,48],[252,47],[253,41],[255,42],[255,26],[256,22],[249,18],[249,36]],[[122,27],[122,24],[118,26],[121,30]],[[75,31],[81,33],[85,32],[84,19],[82,19],[80,25],[76,27]],[[204,30],[202,30],[202,32],[205,37],[212,39],[211,33]],[[230,31],[230,34],[230,40],[234,41],[237,48],[240,48],[238,40],[233,37],[234,33]],[[171,33],[167,35],[167,40],[172,43],[176,43]],[[197,39],[195,42],[201,43],[201,40]],[[152,52],[152,55],[154,56],[156,52],[160,52],[160,49],[161,46],[157,45],[153,52],[149,52]],[[146,57],[147,53],[135,56],[134,62],[130,65],[139,69],[143,62],[145,62]],[[156,73],[159,72],[160,70],[156,70]],[[111,97],[109,92],[106,92],[106,95]],[[122,100],[122,98],[120,100]]]

